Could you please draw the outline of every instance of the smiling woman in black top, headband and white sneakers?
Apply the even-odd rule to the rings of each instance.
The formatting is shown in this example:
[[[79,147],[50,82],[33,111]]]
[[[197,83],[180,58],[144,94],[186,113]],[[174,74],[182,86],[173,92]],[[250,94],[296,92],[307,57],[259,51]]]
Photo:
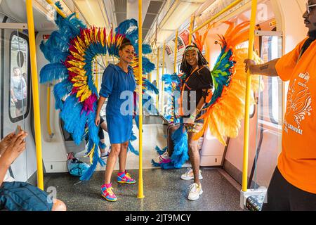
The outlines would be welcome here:
[[[189,200],[197,200],[203,193],[199,179],[202,179],[199,170],[198,141],[193,139],[203,127],[202,108],[206,102],[206,96],[212,89],[213,82],[211,72],[206,66],[208,62],[202,56],[197,46],[190,45],[185,48],[180,71],[185,78],[182,81],[180,97],[180,115],[183,117],[185,130],[187,131],[187,146],[192,169],[181,176],[181,179],[194,179],[190,186]]]

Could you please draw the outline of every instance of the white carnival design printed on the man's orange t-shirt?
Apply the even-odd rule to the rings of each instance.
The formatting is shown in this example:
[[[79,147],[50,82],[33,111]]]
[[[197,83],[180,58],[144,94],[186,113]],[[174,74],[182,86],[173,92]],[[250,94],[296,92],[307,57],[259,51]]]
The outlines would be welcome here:
[[[309,79],[310,75],[308,72],[301,73],[297,79],[294,79],[293,84],[289,86],[286,115],[293,115],[296,124],[289,124],[289,122],[284,121],[284,130],[286,132],[288,132],[288,129],[291,129],[297,134],[303,134],[301,122],[307,116],[310,116],[312,111],[312,96],[308,87]]]

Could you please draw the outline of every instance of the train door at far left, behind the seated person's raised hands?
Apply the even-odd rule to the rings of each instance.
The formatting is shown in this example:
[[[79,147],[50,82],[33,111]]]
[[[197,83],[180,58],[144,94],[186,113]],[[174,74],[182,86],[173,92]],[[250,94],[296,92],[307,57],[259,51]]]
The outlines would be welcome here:
[[[13,162],[9,172],[18,181],[36,176],[36,153],[32,134],[32,90],[29,40],[26,25],[2,23],[1,29],[1,138],[20,125],[29,134],[27,148]],[[9,22],[9,23],[8,23]],[[34,181],[30,181],[34,183]]]

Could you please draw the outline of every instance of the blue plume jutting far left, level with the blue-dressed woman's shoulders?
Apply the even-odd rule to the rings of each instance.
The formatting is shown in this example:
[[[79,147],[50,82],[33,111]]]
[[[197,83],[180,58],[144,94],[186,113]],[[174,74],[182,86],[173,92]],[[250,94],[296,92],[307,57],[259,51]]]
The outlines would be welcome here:
[[[50,63],[41,68],[39,72],[40,83],[52,82],[55,79],[65,79],[68,77],[68,70],[62,63]]]

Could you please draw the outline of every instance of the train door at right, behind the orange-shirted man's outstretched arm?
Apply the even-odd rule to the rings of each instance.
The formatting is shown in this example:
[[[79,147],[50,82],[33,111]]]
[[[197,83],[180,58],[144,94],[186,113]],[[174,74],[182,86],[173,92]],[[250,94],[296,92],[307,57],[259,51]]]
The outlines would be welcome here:
[[[256,51],[266,63],[282,56],[282,32],[256,31]],[[258,91],[255,157],[249,176],[249,188],[268,187],[281,151],[282,80],[262,77],[265,89]]]

